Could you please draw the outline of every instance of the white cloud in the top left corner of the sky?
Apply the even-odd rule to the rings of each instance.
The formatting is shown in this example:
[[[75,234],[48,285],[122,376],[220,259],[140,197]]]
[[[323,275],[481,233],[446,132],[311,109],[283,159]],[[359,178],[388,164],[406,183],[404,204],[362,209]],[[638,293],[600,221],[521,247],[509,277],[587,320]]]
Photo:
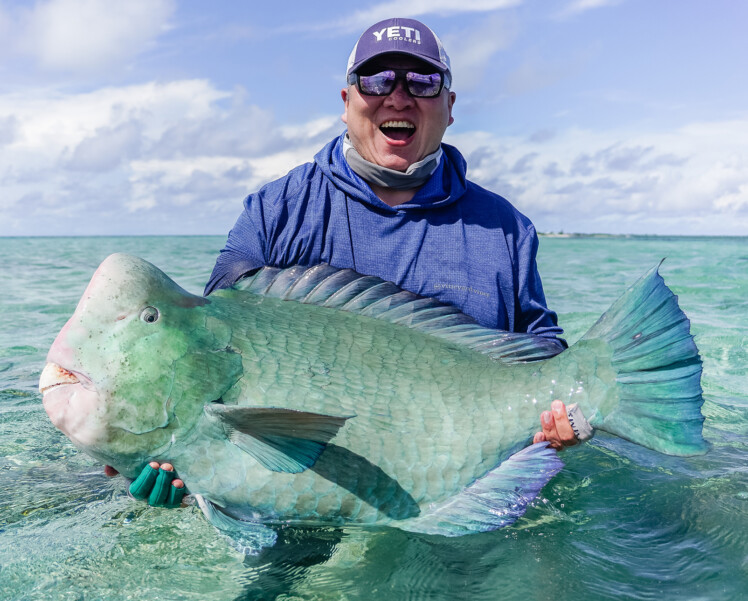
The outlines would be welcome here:
[[[10,45],[48,70],[103,71],[146,50],[167,27],[174,0],[47,0],[6,16]],[[2,22],[0,20],[0,28]]]

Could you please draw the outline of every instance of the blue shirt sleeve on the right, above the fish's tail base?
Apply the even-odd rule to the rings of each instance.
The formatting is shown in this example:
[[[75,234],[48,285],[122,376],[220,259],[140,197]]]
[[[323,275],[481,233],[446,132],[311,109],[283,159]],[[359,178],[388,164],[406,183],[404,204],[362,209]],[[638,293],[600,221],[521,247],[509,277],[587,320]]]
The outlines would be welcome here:
[[[558,318],[545,301],[543,284],[537,266],[538,235],[535,227],[530,227],[520,240],[517,248],[517,306],[515,329],[536,336],[550,338],[559,344],[559,350],[568,347],[566,341],[558,338],[563,329],[558,327]]]

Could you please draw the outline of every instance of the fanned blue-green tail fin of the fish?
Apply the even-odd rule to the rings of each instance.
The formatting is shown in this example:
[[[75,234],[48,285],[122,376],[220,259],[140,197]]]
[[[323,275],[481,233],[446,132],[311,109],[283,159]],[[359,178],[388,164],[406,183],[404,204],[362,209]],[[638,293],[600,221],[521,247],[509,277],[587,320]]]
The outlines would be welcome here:
[[[590,423],[668,455],[698,455],[708,448],[702,436],[701,358],[690,321],[658,267],[580,340],[592,348],[597,340],[607,343],[616,382],[617,403],[603,403]]]

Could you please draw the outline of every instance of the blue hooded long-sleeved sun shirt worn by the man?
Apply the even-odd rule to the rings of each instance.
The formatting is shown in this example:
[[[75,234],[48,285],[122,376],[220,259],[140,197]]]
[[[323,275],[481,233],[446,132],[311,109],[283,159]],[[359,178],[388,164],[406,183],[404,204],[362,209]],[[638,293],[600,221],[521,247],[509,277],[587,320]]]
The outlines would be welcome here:
[[[552,339],[562,333],[546,306],[534,226],[468,181],[456,148],[442,144],[426,184],[390,207],[351,170],[344,136],[245,199],[205,294],[264,265],[329,263],[455,305],[486,327]]]

